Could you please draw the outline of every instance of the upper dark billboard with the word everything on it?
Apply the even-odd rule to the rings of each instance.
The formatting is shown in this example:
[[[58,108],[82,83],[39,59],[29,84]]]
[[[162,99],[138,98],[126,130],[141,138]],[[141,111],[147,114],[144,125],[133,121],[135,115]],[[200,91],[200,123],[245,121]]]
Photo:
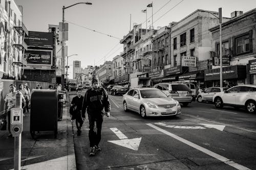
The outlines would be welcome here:
[[[24,41],[28,46],[52,48],[53,33],[29,31],[29,36]]]

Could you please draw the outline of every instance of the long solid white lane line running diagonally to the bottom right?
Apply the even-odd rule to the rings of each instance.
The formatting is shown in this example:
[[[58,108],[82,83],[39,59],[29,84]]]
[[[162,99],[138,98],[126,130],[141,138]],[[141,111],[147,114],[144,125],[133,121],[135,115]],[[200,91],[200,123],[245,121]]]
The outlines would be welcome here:
[[[203,152],[203,153],[205,153],[205,154],[207,154],[207,155],[209,155],[211,157],[214,157],[214,158],[222,161],[223,163],[228,164],[229,166],[232,166],[232,167],[234,167],[236,169],[239,169],[239,170],[250,170],[250,168],[248,168],[248,167],[245,167],[245,166],[240,165],[240,164],[238,164],[236,162],[233,162],[233,161],[229,160],[228,158],[225,158],[225,157],[223,157],[223,156],[221,156],[221,155],[219,155],[217,153],[214,153],[214,152],[212,152],[210,150],[207,150],[207,149],[205,149],[203,147],[200,147],[199,145],[197,145],[197,144],[195,144],[193,142],[190,142],[190,141],[188,141],[186,139],[183,139],[182,137],[179,137],[179,136],[177,136],[177,135],[175,135],[173,133],[170,133],[170,132],[168,132],[166,130],[163,130],[163,129],[155,126],[155,125],[152,125],[152,124],[146,124],[146,125],[154,128],[154,129],[156,129],[156,130],[158,130],[158,131],[160,131],[160,132],[162,132],[162,133],[164,133],[164,134],[166,134],[166,135],[168,135],[170,137],[173,137],[173,138],[175,138],[175,139],[177,139],[177,140],[179,140],[179,141],[189,145],[190,147],[195,148],[195,149],[197,149],[197,150],[199,150],[199,151],[201,151],[201,152]]]

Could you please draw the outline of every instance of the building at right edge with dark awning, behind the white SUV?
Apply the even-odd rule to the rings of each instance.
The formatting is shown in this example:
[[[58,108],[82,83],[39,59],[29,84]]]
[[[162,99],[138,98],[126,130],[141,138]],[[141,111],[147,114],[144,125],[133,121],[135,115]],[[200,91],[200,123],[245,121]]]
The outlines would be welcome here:
[[[243,14],[231,13],[231,19],[222,23],[223,86],[256,84],[256,8]],[[205,71],[207,86],[220,85],[220,28],[212,33],[212,69]]]

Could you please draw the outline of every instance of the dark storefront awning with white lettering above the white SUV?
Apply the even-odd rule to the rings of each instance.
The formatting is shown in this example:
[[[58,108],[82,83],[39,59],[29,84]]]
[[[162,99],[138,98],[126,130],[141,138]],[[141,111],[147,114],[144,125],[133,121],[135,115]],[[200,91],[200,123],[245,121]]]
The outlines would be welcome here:
[[[227,79],[245,79],[246,65],[233,65],[222,68],[222,78]],[[220,80],[220,68],[204,70],[204,80]]]

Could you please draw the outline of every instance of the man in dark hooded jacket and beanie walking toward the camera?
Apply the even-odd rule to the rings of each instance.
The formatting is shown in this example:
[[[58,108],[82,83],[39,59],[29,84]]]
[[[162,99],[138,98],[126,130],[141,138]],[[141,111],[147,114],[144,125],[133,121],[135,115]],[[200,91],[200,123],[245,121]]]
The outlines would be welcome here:
[[[103,111],[103,108],[105,112]],[[89,119],[89,140],[90,140],[90,156],[95,155],[96,151],[101,151],[99,142],[101,139],[101,127],[104,114],[110,116],[110,101],[106,90],[99,87],[99,80],[92,79],[92,88],[86,91],[82,105],[82,117],[86,118],[86,111]],[[94,131],[94,122],[96,122],[96,129]]]

